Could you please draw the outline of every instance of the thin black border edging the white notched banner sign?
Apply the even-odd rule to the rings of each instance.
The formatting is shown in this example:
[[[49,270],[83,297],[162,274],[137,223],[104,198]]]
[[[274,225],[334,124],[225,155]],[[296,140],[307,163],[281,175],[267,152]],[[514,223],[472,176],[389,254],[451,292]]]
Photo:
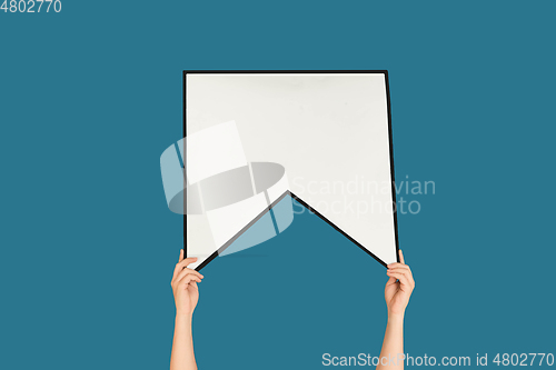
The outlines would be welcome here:
[[[393,130],[391,130],[391,106],[390,106],[390,84],[388,79],[387,70],[183,70],[182,82],[183,82],[183,138],[187,137],[187,74],[222,74],[222,73],[269,73],[269,74],[280,74],[280,73],[367,73],[367,74],[384,74],[385,77],[385,86],[386,86],[386,104],[388,112],[388,141],[389,141],[389,150],[390,150],[390,178],[391,178],[391,199],[393,199],[393,216],[394,216],[394,237],[396,240],[396,260],[399,262],[399,239],[398,239],[398,217],[397,217],[397,199],[396,199],[396,180],[395,180],[395,170],[394,170],[394,143],[393,143]],[[183,163],[187,163],[186,153],[183,153]],[[185,190],[187,192],[187,189]],[[280,200],[284,199],[287,194],[291,196],[296,201],[307,208],[311,213],[317,214],[321,220],[327,222],[347,239],[349,239],[354,244],[363,249],[367,254],[373,257],[384,267],[387,267],[387,263],[366,249],[361,243],[356,241],[345,231],[342,231],[339,227],[337,227],[334,222],[328,220],[326,217],[320,214],[318,211],[310,208],[307,202],[287,190],[284,192],[277,200],[275,200],[269,207],[265,208],[251,222],[249,222],[246,227],[244,227],[236,236],[234,236],[230,240],[228,240],[222,247],[220,247],[216,252],[214,252],[209,258],[202,261],[196,270],[200,271],[203,267],[206,267],[210,261],[212,261],[220,252],[222,252],[226,248],[228,248],[236,239],[238,239],[247,229],[249,229],[255,222],[257,222],[266,212],[268,212],[274,206],[276,206]],[[186,196],[187,197],[187,196]],[[187,257],[187,214],[183,214],[183,257]]]

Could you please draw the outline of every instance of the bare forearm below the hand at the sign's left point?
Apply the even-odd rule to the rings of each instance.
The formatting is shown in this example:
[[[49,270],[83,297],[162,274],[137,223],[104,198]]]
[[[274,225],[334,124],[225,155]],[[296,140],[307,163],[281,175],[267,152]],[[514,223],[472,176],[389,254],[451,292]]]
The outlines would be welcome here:
[[[190,316],[176,316],[170,370],[197,370]]]

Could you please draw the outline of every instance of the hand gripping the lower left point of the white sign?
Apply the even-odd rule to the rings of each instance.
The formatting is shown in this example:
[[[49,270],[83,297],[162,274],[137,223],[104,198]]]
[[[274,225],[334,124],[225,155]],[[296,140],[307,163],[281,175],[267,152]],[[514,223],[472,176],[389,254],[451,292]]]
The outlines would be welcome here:
[[[178,316],[192,316],[199,301],[198,282],[201,282],[203,276],[199,272],[188,269],[187,266],[197,261],[197,258],[183,259],[183,250],[179,253],[179,261],[173,270],[171,281],[173,299],[176,300],[176,313]]]

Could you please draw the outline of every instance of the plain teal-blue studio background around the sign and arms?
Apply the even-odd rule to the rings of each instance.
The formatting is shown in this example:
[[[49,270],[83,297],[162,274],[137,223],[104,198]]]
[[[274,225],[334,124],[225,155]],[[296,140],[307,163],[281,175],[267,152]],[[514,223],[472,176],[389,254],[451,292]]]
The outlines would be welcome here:
[[[159,158],[181,136],[183,69],[387,69],[396,177],[436,183],[408,196],[418,214],[398,218],[417,281],[406,351],[556,351],[555,10],[62,0],[60,13],[1,11],[0,368],[168,368],[182,221]],[[202,369],[379,353],[385,269],[315,216],[203,273]]]

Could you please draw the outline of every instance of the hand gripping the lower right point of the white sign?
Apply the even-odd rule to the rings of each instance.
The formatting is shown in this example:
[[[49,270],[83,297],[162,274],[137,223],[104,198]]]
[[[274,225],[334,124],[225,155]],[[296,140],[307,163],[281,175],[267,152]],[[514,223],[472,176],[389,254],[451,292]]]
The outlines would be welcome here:
[[[386,274],[390,277],[386,283],[384,296],[388,306],[388,317],[404,316],[409,297],[415,289],[415,280],[409,266],[405,264],[404,254],[399,251],[400,263],[388,264]]]

